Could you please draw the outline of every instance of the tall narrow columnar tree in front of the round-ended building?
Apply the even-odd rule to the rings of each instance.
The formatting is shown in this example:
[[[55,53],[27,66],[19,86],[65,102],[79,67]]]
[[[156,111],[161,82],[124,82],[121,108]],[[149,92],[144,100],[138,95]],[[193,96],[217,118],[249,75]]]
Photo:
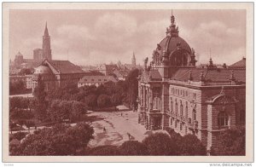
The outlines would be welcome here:
[[[35,111],[39,120],[43,121],[46,118],[46,110],[48,107],[46,101],[46,92],[44,90],[44,81],[42,76],[38,75],[38,86],[34,90],[34,96],[36,97]]]

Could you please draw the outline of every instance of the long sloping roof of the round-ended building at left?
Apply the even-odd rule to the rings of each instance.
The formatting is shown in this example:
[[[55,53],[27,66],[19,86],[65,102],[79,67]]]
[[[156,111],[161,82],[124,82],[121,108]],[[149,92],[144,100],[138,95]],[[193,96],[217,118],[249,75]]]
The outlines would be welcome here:
[[[79,67],[71,63],[69,60],[44,60],[42,64],[48,64],[60,73],[84,73]]]

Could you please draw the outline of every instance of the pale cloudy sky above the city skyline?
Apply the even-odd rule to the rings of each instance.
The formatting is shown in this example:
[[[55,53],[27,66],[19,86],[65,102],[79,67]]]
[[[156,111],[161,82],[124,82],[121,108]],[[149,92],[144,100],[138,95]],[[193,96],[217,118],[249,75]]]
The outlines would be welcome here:
[[[131,63],[152,59],[157,43],[166,37],[171,10],[11,10],[9,54],[20,51],[32,59],[42,48],[47,21],[54,60],[77,65]],[[173,10],[179,36],[195,49],[196,59],[230,65],[246,57],[245,10]]]

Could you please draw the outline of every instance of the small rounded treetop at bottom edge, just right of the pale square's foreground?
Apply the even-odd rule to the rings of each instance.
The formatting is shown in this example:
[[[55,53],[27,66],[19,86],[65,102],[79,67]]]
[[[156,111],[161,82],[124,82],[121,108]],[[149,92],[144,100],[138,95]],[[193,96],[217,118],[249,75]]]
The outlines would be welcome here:
[[[148,147],[139,141],[125,141],[120,147],[122,155],[148,155]]]

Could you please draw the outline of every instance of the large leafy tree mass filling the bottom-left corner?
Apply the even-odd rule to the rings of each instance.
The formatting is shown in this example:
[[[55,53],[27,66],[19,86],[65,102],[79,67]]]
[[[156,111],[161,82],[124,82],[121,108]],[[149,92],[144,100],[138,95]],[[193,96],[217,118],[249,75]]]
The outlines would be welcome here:
[[[73,127],[55,124],[28,135],[11,155],[76,155],[93,138],[93,129],[85,123]],[[10,150],[12,151],[12,150]]]

